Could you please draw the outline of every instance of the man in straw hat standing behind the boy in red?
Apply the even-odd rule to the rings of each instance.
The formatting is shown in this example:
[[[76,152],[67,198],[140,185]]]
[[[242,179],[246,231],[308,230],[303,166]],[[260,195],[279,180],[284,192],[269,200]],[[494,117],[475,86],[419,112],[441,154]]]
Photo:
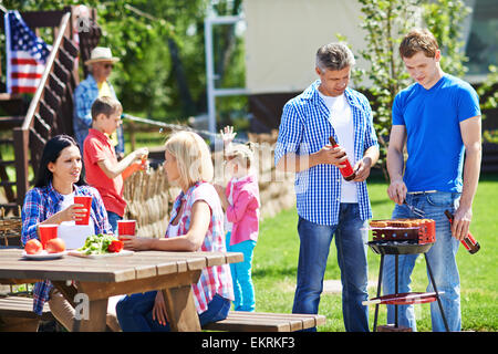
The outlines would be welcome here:
[[[108,76],[114,63],[118,61],[118,58],[112,55],[111,49],[104,46],[95,46],[90,54],[90,59],[85,61],[85,65],[90,66],[90,74],[74,91],[73,117],[74,136],[82,152],[83,142],[89,135],[89,128],[92,126],[91,108],[95,98],[110,96],[117,100],[114,87],[108,82]],[[115,145],[116,155],[123,157],[124,138],[122,126],[111,136],[111,139]]]

